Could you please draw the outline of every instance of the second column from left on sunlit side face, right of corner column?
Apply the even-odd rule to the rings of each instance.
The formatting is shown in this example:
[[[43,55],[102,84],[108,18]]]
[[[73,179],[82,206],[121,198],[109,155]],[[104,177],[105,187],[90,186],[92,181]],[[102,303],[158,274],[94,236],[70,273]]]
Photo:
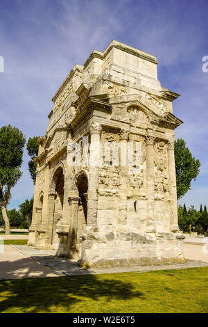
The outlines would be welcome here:
[[[128,130],[120,131],[120,201],[119,201],[119,223],[127,223],[127,193],[128,193]]]

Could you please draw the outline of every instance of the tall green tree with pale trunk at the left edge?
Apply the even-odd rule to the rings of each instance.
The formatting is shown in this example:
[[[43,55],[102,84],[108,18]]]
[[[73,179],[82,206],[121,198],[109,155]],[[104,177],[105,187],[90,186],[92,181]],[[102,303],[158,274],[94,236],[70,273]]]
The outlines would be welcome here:
[[[10,234],[10,223],[6,206],[11,197],[11,189],[21,177],[20,170],[26,138],[17,127],[11,125],[0,129],[0,205],[6,234]]]

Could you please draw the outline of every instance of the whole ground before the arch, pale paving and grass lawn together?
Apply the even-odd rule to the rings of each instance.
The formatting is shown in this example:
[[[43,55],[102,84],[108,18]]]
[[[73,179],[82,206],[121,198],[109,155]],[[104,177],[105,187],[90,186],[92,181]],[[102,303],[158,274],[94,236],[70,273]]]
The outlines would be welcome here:
[[[196,241],[184,244],[184,264],[105,269],[80,268],[54,251],[6,245],[0,312],[207,312],[207,245]]]

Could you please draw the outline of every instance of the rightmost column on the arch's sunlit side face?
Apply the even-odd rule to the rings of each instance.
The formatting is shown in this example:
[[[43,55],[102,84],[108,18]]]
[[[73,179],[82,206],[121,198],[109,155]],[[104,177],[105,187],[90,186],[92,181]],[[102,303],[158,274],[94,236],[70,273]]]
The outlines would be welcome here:
[[[180,230],[180,228],[178,227],[177,221],[177,189],[175,175],[174,141],[168,141],[168,177],[172,204],[171,231],[177,232]]]

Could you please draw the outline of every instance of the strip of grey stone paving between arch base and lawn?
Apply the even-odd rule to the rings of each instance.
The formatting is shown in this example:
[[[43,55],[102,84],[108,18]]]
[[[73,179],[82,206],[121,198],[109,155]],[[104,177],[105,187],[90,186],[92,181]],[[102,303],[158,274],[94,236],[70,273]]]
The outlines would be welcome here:
[[[121,273],[121,272],[147,272],[153,270],[166,270],[166,269],[187,269],[193,267],[208,266],[208,262],[200,260],[187,260],[187,262],[181,264],[161,264],[158,266],[116,266],[108,268],[80,268],[76,261],[63,260],[55,257],[55,251],[51,250],[37,250],[33,247],[26,245],[15,245],[16,248],[24,255],[30,255],[34,260],[40,262],[43,266],[49,266],[51,269],[58,273],[60,276],[74,276],[74,275],[86,275],[94,273]]]

